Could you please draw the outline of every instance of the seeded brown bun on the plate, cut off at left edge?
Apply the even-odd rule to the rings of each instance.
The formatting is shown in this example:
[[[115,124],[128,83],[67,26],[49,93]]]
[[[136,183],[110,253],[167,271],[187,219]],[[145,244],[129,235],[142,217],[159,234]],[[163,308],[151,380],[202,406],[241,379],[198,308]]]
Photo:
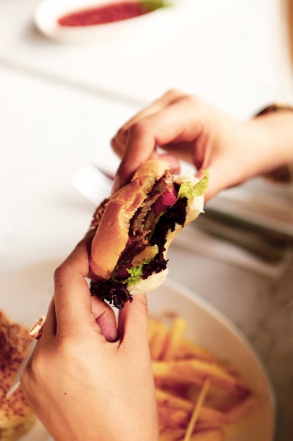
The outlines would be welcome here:
[[[37,421],[25,402],[21,387],[6,399],[31,340],[28,330],[18,323],[12,323],[0,311],[0,341],[0,439],[13,441],[18,440]]]

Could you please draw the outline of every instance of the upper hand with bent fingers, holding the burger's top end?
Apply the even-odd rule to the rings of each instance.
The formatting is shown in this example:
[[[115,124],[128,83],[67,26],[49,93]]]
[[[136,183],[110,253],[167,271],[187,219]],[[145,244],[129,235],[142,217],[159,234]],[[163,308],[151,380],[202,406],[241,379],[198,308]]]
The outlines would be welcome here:
[[[209,170],[207,201],[227,187],[279,166],[278,147],[272,139],[279,140],[280,132],[270,132],[268,125],[262,118],[237,121],[200,97],[171,90],[138,112],[112,139],[113,149],[122,158],[113,192],[131,179],[140,163],[162,156],[175,172],[178,159],[193,163],[198,178]]]

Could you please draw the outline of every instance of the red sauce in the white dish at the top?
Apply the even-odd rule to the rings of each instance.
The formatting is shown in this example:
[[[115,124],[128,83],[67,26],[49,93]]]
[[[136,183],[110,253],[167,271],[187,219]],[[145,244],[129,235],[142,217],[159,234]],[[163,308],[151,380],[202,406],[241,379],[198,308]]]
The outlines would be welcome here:
[[[156,8],[148,8],[138,1],[122,1],[63,15],[58,19],[58,24],[60,26],[102,25],[138,17],[153,11],[153,9]]]

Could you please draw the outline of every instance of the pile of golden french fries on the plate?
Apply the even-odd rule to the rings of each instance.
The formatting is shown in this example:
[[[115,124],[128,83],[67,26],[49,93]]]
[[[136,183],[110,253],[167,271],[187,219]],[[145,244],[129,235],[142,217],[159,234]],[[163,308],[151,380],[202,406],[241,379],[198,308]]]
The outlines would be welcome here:
[[[260,408],[233,369],[185,340],[178,316],[149,320],[160,441],[223,441],[227,428]]]

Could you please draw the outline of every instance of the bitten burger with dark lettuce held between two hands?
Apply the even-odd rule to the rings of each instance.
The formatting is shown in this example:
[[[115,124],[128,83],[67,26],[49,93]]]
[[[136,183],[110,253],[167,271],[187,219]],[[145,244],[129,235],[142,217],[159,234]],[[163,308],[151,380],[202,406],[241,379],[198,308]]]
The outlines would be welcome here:
[[[105,199],[91,223],[91,294],[121,309],[133,294],[162,285],[169,246],[203,211],[207,180],[173,175],[167,162],[150,160]]]

